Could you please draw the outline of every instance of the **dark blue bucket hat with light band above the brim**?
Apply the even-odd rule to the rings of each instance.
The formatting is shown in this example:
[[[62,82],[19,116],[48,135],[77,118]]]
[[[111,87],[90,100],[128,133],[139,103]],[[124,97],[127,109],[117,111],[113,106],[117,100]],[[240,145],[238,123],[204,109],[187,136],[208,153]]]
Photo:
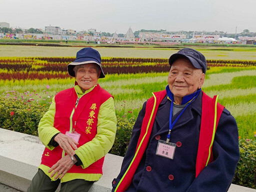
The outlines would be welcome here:
[[[99,75],[99,78],[104,78],[104,72],[101,68],[101,57],[97,50],[91,48],[91,47],[85,47],[79,50],[76,53],[76,58],[73,62],[69,63],[67,65],[67,71],[70,76],[75,76],[75,73],[73,71],[73,68],[75,65],[79,64],[87,64],[87,63],[95,63],[99,66],[101,72]]]

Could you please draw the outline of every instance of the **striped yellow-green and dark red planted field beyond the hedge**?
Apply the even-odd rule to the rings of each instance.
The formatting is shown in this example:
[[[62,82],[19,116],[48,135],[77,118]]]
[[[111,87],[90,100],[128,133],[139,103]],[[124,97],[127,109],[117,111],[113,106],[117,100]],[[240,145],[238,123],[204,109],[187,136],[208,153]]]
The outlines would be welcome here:
[[[47,110],[56,92],[73,86],[66,65],[74,57],[0,57],[1,98],[24,107],[33,104]],[[207,60],[203,90],[219,94],[219,102],[233,114],[242,138],[256,131],[256,61]],[[106,74],[99,84],[113,94],[116,113],[130,118],[138,114],[152,91],[167,84],[168,60],[163,58],[102,58]],[[15,109],[9,111],[15,116]]]

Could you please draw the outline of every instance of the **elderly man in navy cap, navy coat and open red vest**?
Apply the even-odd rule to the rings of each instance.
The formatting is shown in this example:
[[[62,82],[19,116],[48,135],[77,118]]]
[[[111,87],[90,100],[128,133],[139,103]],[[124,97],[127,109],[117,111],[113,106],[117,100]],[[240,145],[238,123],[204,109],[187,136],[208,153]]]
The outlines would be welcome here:
[[[235,119],[201,90],[200,52],[183,48],[169,64],[166,90],[143,104],[112,191],[227,191],[239,159]]]

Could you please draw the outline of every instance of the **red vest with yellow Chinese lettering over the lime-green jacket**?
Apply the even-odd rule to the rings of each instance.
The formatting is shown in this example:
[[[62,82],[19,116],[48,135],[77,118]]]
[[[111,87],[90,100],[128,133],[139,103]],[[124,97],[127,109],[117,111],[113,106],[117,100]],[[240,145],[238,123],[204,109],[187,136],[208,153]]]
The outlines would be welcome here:
[[[92,140],[97,133],[97,115],[100,105],[111,95],[98,84],[88,93],[79,98],[78,104],[72,115],[72,128],[80,134],[77,147]],[[65,134],[70,130],[70,116],[77,100],[74,87],[62,90],[55,95],[55,115],[53,126]],[[74,121],[76,124],[74,126]],[[62,157],[60,146],[49,150],[45,147],[41,164],[51,167]],[[66,155],[66,153],[65,153]],[[81,166],[72,166],[67,172],[71,173],[101,173],[104,157],[83,169]]]

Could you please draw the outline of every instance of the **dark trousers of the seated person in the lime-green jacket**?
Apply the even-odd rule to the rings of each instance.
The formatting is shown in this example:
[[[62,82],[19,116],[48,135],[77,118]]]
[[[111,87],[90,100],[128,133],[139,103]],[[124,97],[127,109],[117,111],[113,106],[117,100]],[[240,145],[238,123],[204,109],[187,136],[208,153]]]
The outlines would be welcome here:
[[[38,169],[34,175],[27,192],[54,192],[60,180],[51,181],[50,178],[41,170]],[[86,192],[90,189],[94,181],[83,179],[74,179],[67,182],[62,182],[60,185],[60,192]]]

